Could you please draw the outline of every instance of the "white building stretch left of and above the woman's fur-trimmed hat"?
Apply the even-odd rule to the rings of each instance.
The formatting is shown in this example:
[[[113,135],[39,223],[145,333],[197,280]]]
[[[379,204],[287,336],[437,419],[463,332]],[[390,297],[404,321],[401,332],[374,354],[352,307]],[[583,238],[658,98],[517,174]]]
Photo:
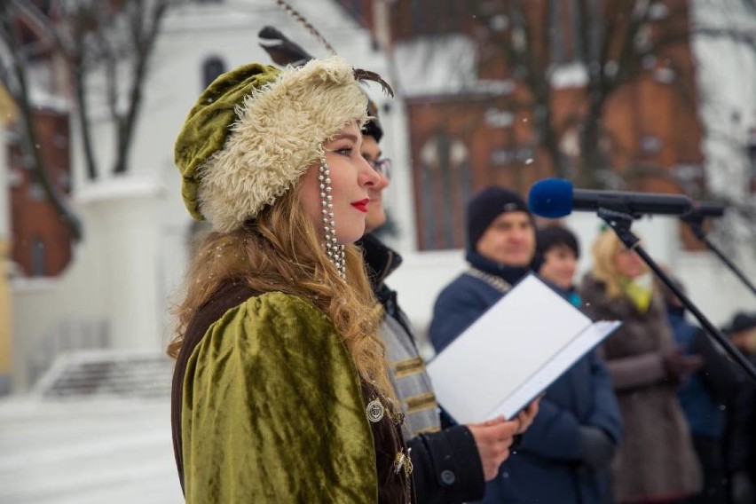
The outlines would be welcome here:
[[[369,34],[337,4],[293,4],[344,58],[385,75],[385,61]],[[251,61],[272,63],[257,43],[265,25],[279,28],[314,55],[327,55],[269,0],[187,3],[169,12],[150,64],[130,172],[100,174],[91,182],[81,153],[74,151],[73,205],[83,219],[84,240],[59,278],[12,280],[15,390],[27,390],[55,355],[80,348],[83,340],[116,350],[164,349],[191,224],[173,144],[207,84],[203,75],[209,64],[228,70]],[[98,83],[91,88],[97,90]],[[387,99],[380,91],[368,91],[379,101]],[[93,114],[97,121],[98,110]],[[103,166],[111,165],[114,152],[111,130],[106,123],[95,128],[93,143]]]

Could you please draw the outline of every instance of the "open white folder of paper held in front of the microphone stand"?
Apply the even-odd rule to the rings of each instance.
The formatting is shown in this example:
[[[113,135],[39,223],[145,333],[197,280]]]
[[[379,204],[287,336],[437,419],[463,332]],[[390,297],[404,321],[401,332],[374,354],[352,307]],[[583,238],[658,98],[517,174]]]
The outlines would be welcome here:
[[[438,403],[460,423],[510,418],[618,326],[531,274],[429,363]]]

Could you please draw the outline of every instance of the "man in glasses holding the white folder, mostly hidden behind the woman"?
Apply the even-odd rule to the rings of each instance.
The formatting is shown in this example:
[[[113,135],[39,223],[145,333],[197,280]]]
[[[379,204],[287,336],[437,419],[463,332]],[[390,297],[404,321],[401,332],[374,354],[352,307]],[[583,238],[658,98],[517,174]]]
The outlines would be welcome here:
[[[406,415],[403,434],[411,450],[417,500],[454,504],[480,499],[485,480],[496,476],[501,461],[508,457],[514,435],[530,425],[538,406],[530,407],[516,421],[499,419],[441,429],[436,396],[409,321],[399,308],[397,293],[384,283],[401,264],[401,256],[370,234],[386,221],[382,191],[390,178],[390,161],[382,158],[378,146],[382,128],[374,104],[371,107],[374,120],[363,130],[361,153],[382,175],[382,182],[368,192],[368,234],[358,245],[365,255],[375,297],[385,311],[381,335],[386,343],[391,381]]]

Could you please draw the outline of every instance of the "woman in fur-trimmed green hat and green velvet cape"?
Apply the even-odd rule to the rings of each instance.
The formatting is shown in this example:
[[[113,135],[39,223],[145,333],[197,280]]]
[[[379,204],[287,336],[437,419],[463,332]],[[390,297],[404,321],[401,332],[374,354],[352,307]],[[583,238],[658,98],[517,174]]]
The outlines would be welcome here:
[[[176,143],[213,231],[177,307],[172,421],[187,502],[410,502],[412,462],[359,251],[366,96],[343,59],[217,78]]]

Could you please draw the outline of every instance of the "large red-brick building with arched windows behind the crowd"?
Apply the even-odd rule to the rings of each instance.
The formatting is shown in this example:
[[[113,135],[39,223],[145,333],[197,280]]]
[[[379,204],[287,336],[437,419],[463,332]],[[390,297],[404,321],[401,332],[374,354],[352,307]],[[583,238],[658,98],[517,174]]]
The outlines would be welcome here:
[[[590,12],[579,0],[340,2],[394,57],[421,250],[463,246],[464,203],[484,185],[527,193],[557,176],[702,193],[684,0],[638,19],[601,0]]]

